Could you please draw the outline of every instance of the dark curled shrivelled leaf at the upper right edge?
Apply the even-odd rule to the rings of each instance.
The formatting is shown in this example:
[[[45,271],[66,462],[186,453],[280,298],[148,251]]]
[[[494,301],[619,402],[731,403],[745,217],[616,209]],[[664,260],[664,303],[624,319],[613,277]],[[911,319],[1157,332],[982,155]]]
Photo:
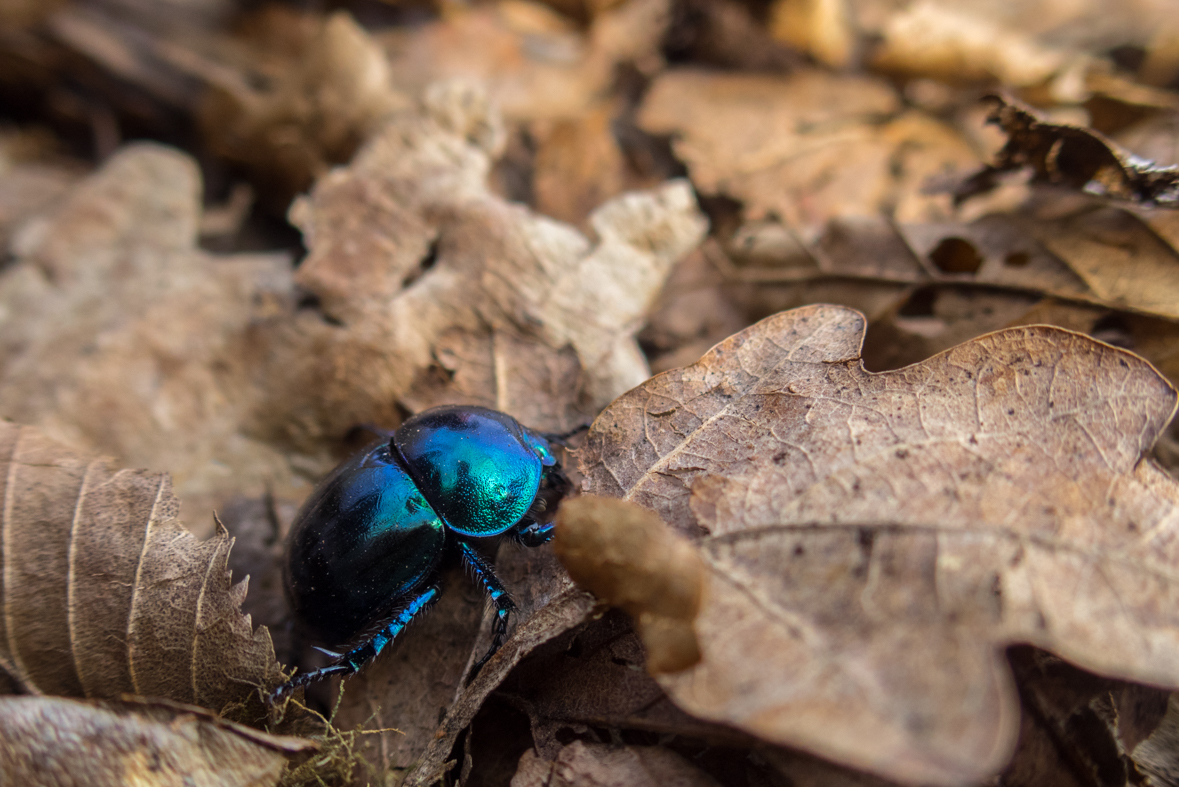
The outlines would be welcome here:
[[[1140,159],[1089,128],[1048,123],[1014,99],[988,95],[986,100],[992,107],[987,121],[1007,133],[1007,144],[994,164],[955,190],[956,203],[994,189],[1005,172],[1030,168],[1034,181],[1117,200],[1179,206],[1179,167]]]

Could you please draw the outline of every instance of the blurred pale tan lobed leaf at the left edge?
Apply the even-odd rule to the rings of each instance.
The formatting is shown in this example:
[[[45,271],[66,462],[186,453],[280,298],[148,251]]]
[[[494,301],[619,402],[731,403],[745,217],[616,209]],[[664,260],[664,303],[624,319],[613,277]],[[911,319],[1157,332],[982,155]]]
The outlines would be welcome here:
[[[195,161],[136,145],[27,220],[0,273],[0,416],[166,468],[209,533],[224,495],[291,482],[245,431],[269,405],[268,324],[295,295],[285,254],[197,249],[199,217]]]

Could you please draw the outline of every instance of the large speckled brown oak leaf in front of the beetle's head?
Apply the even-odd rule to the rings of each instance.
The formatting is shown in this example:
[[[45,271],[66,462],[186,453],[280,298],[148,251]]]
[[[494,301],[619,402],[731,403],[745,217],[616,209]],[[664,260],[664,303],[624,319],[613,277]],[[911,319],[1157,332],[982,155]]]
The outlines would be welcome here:
[[[693,715],[901,781],[1012,753],[1003,647],[1179,686],[1175,411],[1146,362],[1048,326],[884,373],[863,317],[776,315],[594,422],[587,491],[697,538]]]

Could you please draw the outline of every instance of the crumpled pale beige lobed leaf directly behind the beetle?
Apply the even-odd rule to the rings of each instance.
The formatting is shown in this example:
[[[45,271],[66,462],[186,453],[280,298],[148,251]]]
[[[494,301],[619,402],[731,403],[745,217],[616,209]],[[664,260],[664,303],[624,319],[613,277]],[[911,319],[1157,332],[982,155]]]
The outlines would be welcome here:
[[[305,396],[271,411],[275,429],[466,402],[560,430],[647,377],[634,335],[706,229],[691,189],[606,203],[591,240],[487,190],[500,127],[480,90],[436,84],[295,204],[310,249],[296,282],[328,320],[302,313],[274,364],[276,390]]]

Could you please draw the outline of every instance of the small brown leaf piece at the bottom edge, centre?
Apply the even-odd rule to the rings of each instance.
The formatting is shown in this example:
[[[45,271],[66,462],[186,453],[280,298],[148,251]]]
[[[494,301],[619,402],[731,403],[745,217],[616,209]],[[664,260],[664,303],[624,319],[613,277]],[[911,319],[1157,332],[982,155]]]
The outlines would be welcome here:
[[[532,752],[520,759],[512,787],[719,787],[716,779],[657,746],[574,741],[552,762]]]

